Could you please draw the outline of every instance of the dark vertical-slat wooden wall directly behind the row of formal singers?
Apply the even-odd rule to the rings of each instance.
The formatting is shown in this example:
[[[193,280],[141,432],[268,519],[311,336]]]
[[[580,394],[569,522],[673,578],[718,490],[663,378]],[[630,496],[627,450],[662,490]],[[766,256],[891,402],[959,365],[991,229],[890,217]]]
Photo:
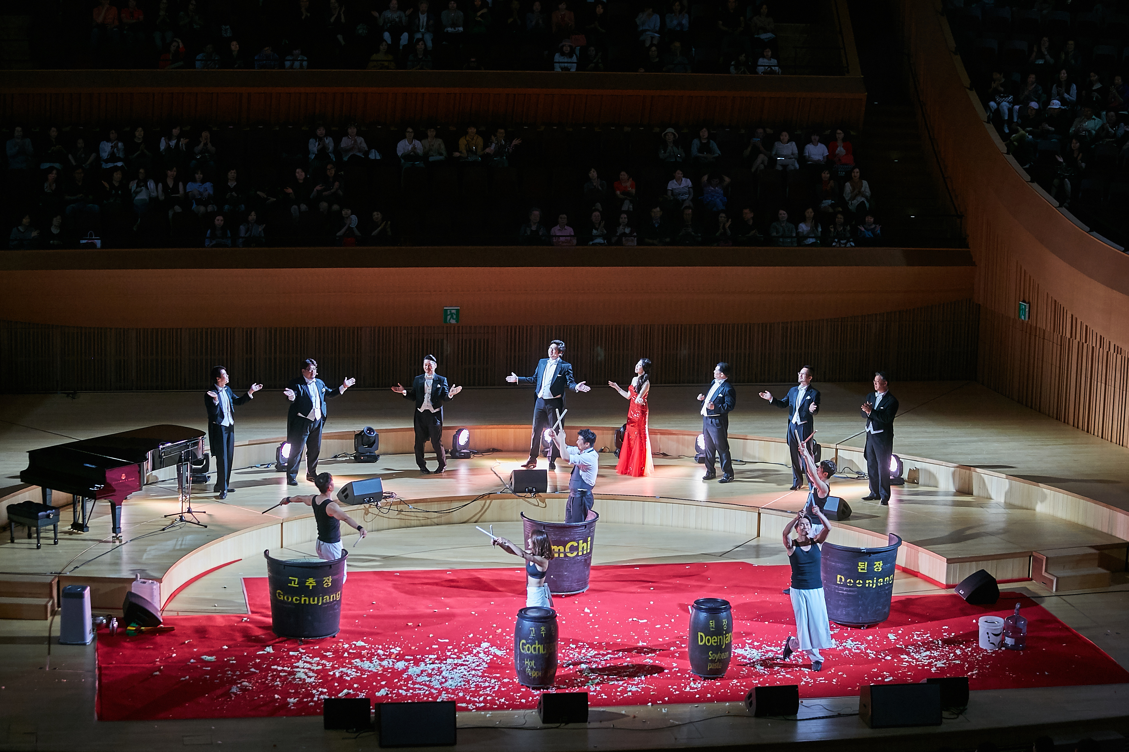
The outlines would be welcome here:
[[[334,328],[99,329],[0,322],[8,391],[191,389],[212,365],[281,387],[303,357],[361,387],[403,381],[431,352],[467,386],[532,373],[550,339],[568,345],[580,379],[624,379],[654,361],[656,383],[695,383],[726,360],[738,381],[790,381],[796,364],[823,381],[865,380],[882,368],[900,380],[971,379],[979,316],[971,301],[892,313],[784,324],[431,326]]]

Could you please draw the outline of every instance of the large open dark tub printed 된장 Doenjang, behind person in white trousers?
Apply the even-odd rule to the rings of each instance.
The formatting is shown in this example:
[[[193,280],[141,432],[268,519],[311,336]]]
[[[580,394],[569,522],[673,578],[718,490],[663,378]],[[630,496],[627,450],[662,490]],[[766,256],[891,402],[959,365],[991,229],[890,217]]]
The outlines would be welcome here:
[[[820,575],[831,621],[844,627],[873,627],[890,618],[902,539],[889,533],[886,540],[886,546],[877,548],[823,543]]]

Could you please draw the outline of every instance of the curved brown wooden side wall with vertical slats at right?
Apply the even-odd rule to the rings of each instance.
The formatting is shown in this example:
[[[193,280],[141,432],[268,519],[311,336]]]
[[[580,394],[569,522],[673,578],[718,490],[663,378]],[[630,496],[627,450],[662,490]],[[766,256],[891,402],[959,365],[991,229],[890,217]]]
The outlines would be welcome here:
[[[977,379],[1129,445],[1129,259],[1053,211],[1008,165],[970,100],[935,3],[903,0],[901,9],[922,106],[977,263]],[[1029,321],[1018,319],[1021,300],[1031,304]]]

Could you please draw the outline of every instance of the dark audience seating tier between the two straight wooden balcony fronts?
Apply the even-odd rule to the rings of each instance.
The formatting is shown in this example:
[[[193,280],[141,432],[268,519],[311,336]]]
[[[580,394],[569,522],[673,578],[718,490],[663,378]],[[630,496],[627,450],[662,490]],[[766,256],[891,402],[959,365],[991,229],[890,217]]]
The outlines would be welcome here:
[[[5,216],[11,248],[887,245],[886,188],[866,180],[852,134],[791,135],[426,123],[9,131]]]

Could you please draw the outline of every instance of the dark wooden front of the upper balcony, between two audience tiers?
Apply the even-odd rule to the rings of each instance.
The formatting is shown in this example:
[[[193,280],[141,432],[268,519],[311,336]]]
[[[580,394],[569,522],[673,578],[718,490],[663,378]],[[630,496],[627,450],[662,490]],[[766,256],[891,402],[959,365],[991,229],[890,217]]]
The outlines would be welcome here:
[[[208,86],[201,86],[209,81]],[[487,86],[483,86],[485,83]],[[37,125],[501,122],[806,127],[863,124],[860,77],[461,71],[0,72],[0,120]]]

